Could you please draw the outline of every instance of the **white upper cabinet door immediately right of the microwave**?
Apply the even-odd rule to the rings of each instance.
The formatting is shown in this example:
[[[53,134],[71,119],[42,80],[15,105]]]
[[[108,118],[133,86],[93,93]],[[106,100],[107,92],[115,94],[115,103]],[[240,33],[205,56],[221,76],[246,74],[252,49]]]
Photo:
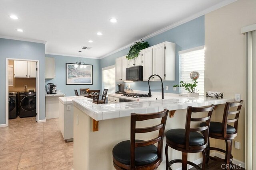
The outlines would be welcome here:
[[[143,80],[148,81],[152,75],[152,48],[142,51]]]

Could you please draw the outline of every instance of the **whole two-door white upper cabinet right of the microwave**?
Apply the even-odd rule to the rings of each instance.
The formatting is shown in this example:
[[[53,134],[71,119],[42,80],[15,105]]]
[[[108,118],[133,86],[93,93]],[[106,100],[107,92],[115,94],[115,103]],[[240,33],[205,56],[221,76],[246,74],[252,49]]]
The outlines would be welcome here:
[[[143,49],[143,81],[148,81],[152,74],[158,74],[162,80],[175,80],[175,43],[163,42]],[[160,80],[153,76],[152,80]]]

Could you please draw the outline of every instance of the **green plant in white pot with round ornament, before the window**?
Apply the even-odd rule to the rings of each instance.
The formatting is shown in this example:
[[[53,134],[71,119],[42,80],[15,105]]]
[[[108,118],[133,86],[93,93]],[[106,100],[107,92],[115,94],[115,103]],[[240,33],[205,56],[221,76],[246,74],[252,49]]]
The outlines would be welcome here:
[[[197,86],[197,79],[199,78],[199,72],[197,71],[192,71],[190,73],[190,78],[192,80],[192,83],[186,83],[184,81],[180,81],[180,84],[176,84],[173,87],[184,87],[186,90],[188,90],[188,97],[198,97],[199,93],[198,90],[196,90]]]

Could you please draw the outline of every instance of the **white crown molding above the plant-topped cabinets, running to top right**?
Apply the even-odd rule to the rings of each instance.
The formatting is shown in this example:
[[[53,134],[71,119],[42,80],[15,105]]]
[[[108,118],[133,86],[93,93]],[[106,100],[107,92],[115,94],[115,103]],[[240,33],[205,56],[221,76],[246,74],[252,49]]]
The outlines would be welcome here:
[[[231,3],[235,2],[235,1],[237,1],[237,0],[224,0],[224,1],[222,1],[222,2],[220,2],[220,3],[218,3],[218,4],[214,5],[214,6],[212,6],[212,7],[210,7],[210,8],[207,8],[207,9],[205,9],[205,10],[203,10],[203,11],[201,11],[201,12],[198,12],[198,13],[196,13],[196,14],[194,14],[194,15],[188,17],[188,18],[185,18],[184,20],[180,20],[180,21],[178,21],[178,22],[176,22],[176,23],[173,23],[172,25],[169,25],[169,26],[164,27],[164,28],[162,28],[162,29],[160,29],[160,30],[158,30],[158,31],[156,31],[156,32],[154,32],[154,33],[151,33],[151,34],[149,34],[149,35],[143,37],[142,39],[143,39],[143,40],[146,40],[146,39],[149,39],[149,38],[151,38],[151,37],[154,37],[154,36],[156,36],[156,35],[158,35],[158,34],[160,34],[160,33],[163,33],[163,32],[165,32],[165,31],[168,31],[168,30],[170,30],[170,29],[172,29],[172,28],[175,28],[175,27],[177,27],[177,26],[179,26],[179,25],[182,25],[183,23],[186,23],[186,22],[188,22],[188,21],[194,20],[194,19],[196,19],[196,18],[198,18],[198,17],[200,17],[200,16],[203,16],[203,15],[205,15],[205,14],[208,14],[209,12],[212,12],[212,11],[214,11],[214,10],[217,10],[217,9],[219,9],[219,8],[222,8],[223,6],[226,6],[226,5],[228,5],[228,4],[231,4]],[[141,38],[138,39],[137,41],[140,41],[140,40],[141,40]],[[134,42],[137,42],[137,41],[134,41]],[[104,55],[104,56],[100,57],[99,59],[103,59],[103,58],[108,57],[108,56],[110,56],[110,55],[112,55],[112,54],[114,54],[114,53],[116,53],[116,52],[118,52],[118,51],[121,51],[121,50],[123,50],[123,49],[126,49],[127,47],[130,47],[134,42],[132,42],[132,43],[130,43],[130,44],[124,46],[124,47],[121,47],[121,48],[119,48],[119,49],[117,49],[117,50],[115,50],[115,51],[112,51],[111,53],[108,53],[107,55]]]

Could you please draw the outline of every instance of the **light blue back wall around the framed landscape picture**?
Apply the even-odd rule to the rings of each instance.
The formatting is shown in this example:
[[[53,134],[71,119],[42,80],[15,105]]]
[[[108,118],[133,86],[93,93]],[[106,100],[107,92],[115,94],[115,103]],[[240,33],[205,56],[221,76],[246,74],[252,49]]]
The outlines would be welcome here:
[[[90,88],[92,90],[101,90],[100,82],[100,60],[81,58],[81,61],[86,64],[92,64],[93,69],[93,84],[92,85],[66,85],[66,63],[76,63],[79,61],[78,57],[67,57],[60,55],[45,55],[46,57],[52,57],[55,59],[55,78],[46,79],[45,83],[51,82],[57,85],[57,90],[60,90],[66,96],[75,96],[74,89]],[[101,92],[102,93],[102,92]]]

